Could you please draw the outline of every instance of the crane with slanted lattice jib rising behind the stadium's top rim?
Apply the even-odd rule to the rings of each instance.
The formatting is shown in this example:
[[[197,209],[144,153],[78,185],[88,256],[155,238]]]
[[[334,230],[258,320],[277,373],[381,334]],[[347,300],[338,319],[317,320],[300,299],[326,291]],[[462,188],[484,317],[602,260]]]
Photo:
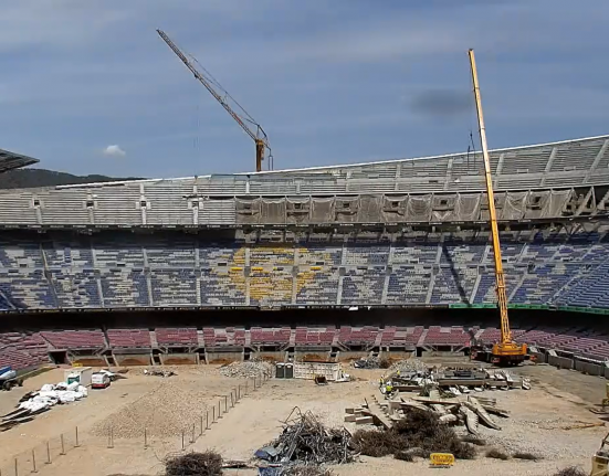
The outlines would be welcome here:
[[[212,77],[207,77],[204,74],[200,73],[193,64],[186,57],[186,55],[180,51],[180,49],[167,36],[167,34],[162,30],[157,30],[158,35],[167,43],[167,45],[171,49],[174,53],[176,53],[176,56],[178,56],[182,63],[190,70],[190,72],[195,75],[195,77],[206,87],[207,91],[220,103],[220,105],[227,110],[227,113],[230,114],[230,116],[241,126],[241,128],[248,134],[248,136],[251,137],[251,139],[255,144],[255,170],[256,172],[262,171],[262,161],[264,160],[264,151],[265,149],[269,150],[269,168],[272,169],[273,167],[273,155],[271,152],[271,146],[269,145],[269,137],[266,136],[266,133],[262,128],[260,124],[258,124],[252,116],[248,114],[243,107],[239,105],[237,101],[234,101],[230,94],[228,94],[222,86],[219,85],[219,83],[213,80]],[[208,76],[210,76],[208,74]],[[216,84],[217,87],[219,87],[223,93],[224,97],[222,97],[216,88],[212,86],[212,84]],[[233,103],[233,107],[237,107],[241,110],[242,115],[239,115],[234,112],[233,107],[229,104],[229,101]],[[256,131],[254,133],[245,123],[250,123],[252,126],[255,127]]]

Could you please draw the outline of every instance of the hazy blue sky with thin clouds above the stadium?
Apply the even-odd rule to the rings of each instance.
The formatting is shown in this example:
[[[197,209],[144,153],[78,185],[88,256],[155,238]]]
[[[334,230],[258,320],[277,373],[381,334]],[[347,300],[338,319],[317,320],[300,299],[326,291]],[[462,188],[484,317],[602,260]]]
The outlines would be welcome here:
[[[275,169],[466,150],[469,47],[491,148],[609,133],[607,0],[0,0],[0,148],[54,170],[253,169],[250,138],[157,28],[264,126]]]

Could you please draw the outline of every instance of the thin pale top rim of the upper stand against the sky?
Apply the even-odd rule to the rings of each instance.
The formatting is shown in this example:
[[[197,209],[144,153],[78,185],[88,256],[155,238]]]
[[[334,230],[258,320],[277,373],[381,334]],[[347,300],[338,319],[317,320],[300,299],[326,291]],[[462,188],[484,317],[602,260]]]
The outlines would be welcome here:
[[[504,152],[504,151],[516,151],[522,149],[531,149],[535,147],[549,147],[549,146],[560,146],[565,144],[571,144],[571,142],[581,142],[587,140],[599,140],[599,139],[609,139],[609,134],[601,135],[601,136],[591,136],[591,137],[582,137],[578,139],[567,139],[567,140],[557,140],[554,142],[544,142],[544,144],[534,144],[528,146],[516,146],[516,147],[504,147],[501,149],[491,149],[489,152]],[[412,161],[412,160],[433,160],[433,159],[442,159],[447,157],[456,157],[462,156],[466,152],[452,152],[452,154],[443,154],[439,156],[427,156],[427,157],[413,157],[413,158],[401,158],[401,159],[390,159],[390,160],[379,160],[379,161],[370,161],[370,162],[358,162],[358,163],[345,163],[345,165],[334,165],[334,166],[316,166],[316,167],[304,167],[298,169],[282,169],[282,170],[267,170],[262,172],[238,172],[238,173],[207,173],[202,176],[190,176],[190,177],[175,177],[175,178],[165,178],[165,179],[140,179],[140,180],[119,180],[119,181],[109,181],[109,182],[91,182],[91,183],[74,183],[70,186],[55,186],[55,187],[45,187],[45,189],[81,189],[81,188],[98,188],[98,187],[118,187],[124,186],[128,183],[154,183],[154,182],[164,182],[164,181],[179,181],[179,180],[191,180],[195,178],[212,178],[212,177],[224,177],[227,179],[230,178],[242,178],[246,176],[273,176],[273,174],[282,174],[282,173],[291,173],[291,172],[315,172],[316,170],[319,171],[319,173],[326,172],[328,170],[335,170],[335,169],[344,169],[344,168],[353,168],[353,167],[363,167],[363,166],[372,166],[372,165],[384,165],[384,163],[395,163],[395,162],[403,162],[403,161]],[[480,154],[477,151],[476,154]]]

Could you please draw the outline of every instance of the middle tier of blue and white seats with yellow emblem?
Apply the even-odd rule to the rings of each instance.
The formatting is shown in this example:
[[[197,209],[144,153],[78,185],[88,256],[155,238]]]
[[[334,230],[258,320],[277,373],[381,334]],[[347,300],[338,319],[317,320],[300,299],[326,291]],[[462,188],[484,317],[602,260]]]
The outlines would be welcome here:
[[[496,302],[493,252],[480,233],[395,243],[53,236],[0,241],[0,310]],[[506,232],[502,239],[513,304],[609,307],[605,235]]]

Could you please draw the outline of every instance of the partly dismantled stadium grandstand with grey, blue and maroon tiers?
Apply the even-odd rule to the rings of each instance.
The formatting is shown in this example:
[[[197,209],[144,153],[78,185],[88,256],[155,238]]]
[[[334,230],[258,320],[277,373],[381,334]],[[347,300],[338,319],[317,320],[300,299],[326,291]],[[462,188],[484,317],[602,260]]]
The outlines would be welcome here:
[[[609,136],[490,161],[513,337],[603,362]],[[479,154],[6,190],[0,226],[0,366],[468,352],[500,337]]]

